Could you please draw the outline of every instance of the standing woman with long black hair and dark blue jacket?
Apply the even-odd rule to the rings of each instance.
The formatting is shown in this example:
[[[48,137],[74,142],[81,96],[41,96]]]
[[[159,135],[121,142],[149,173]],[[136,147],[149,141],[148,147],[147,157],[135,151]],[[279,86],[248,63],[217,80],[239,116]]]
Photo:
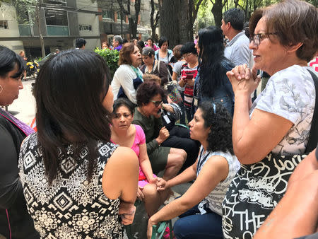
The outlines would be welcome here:
[[[233,114],[234,93],[226,72],[232,69],[231,62],[224,57],[223,33],[211,26],[199,30],[199,75],[194,83],[192,113],[199,103],[220,103],[230,115]]]

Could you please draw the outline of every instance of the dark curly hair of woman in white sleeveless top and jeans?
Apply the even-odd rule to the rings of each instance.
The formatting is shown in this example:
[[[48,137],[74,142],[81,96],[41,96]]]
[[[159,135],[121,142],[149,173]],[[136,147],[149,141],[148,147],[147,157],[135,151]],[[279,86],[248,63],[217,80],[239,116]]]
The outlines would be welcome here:
[[[204,118],[204,127],[211,128],[208,134],[208,151],[229,151],[234,155],[232,145],[232,117],[220,104],[216,104],[216,112],[214,112],[213,104],[203,102],[199,105]]]

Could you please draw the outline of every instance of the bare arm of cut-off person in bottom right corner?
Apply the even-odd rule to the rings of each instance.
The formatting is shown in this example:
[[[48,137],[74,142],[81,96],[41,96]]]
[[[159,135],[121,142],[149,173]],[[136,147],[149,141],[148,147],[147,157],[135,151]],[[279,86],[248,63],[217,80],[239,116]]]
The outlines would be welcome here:
[[[269,214],[254,239],[298,238],[317,232],[318,170],[288,187],[281,202]]]

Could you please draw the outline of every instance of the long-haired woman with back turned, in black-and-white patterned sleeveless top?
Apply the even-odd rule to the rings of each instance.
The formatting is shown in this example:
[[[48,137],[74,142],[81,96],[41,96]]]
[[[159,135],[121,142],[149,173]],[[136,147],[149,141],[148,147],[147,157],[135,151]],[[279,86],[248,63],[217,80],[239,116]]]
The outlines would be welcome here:
[[[119,206],[134,212],[138,158],[110,142],[110,80],[86,50],[55,55],[37,76],[37,133],[23,141],[19,168],[41,238],[123,238]]]

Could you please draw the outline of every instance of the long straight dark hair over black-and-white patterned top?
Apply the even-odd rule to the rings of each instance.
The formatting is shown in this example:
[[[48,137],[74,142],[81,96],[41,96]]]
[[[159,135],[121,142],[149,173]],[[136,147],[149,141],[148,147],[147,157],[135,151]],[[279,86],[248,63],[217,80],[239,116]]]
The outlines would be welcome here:
[[[88,148],[88,181],[97,163],[97,141],[110,141],[111,115],[102,105],[110,86],[110,71],[95,52],[76,49],[47,60],[35,83],[37,139],[45,173],[52,183],[61,154],[72,144],[75,156]]]

